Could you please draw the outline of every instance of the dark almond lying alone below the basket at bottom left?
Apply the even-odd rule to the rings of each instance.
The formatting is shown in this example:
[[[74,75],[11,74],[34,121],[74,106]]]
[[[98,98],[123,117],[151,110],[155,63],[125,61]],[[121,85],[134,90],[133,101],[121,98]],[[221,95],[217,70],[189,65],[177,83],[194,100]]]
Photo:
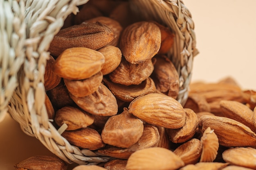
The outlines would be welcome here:
[[[36,155],[14,165],[16,170],[67,170],[65,161],[58,157]]]

